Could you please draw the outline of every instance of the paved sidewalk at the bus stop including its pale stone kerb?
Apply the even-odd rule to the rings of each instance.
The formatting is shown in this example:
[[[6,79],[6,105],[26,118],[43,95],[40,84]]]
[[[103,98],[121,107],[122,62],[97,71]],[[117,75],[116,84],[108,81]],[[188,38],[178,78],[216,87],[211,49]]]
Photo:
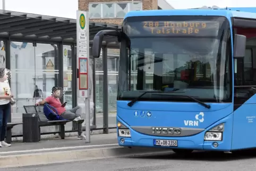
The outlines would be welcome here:
[[[116,133],[91,135],[91,143],[71,136],[64,140],[55,138],[36,143],[14,142],[11,147],[2,147],[0,148],[0,168],[169,152],[170,150],[159,148],[120,147],[117,144]]]

